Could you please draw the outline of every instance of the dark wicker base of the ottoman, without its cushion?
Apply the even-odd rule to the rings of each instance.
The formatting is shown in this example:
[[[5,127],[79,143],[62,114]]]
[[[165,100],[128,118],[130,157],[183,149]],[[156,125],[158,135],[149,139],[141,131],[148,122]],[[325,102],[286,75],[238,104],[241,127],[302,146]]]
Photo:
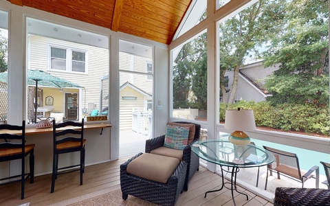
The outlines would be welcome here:
[[[126,172],[127,165],[142,153],[120,165],[120,187],[122,198],[133,195],[157,205],[175,205],[184,187],[187,163],[181,161],[167,183],[159,183]]]

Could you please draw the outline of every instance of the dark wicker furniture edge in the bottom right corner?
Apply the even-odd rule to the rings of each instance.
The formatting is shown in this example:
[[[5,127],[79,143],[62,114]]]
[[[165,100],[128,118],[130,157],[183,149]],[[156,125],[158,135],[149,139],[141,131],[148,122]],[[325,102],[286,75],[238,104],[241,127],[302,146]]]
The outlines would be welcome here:
[[[330,190],[314,188],[277,187],[275,206],[330,206]]]

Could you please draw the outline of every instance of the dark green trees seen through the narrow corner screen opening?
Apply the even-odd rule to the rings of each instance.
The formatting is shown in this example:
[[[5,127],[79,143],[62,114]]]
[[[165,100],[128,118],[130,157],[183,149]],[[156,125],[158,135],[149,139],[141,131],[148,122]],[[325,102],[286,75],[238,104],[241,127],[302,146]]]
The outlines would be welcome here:
[[[206,34],[181,48],[173,67],[173,108],[206,108]]]

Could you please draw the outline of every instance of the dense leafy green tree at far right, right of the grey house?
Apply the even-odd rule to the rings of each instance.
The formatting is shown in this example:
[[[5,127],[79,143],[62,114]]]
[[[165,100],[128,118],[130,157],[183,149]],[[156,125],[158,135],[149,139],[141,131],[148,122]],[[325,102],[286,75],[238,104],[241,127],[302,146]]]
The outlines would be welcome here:
[[[272,104],[329,104],[328,1],[289,1],[283,30],[270,33],[265,67],[279,65],[265,86]]]

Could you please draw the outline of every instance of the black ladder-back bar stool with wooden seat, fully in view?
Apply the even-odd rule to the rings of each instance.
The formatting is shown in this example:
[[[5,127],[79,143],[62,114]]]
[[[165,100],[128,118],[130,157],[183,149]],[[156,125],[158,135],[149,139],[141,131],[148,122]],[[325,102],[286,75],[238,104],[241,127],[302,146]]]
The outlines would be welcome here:
[[[65,128],[66,126],[75,126],[79,129]],[[65,130],[61,130],[61,128],[65,128]],[[55,119],[53,119],[53,172],[51,193],[54,192],[55,180],[59,174],[80,171],[80,185],[83,185],[85,144],[84,119],[82,119],[81,122],[67,121],[59,124],[56,124]],[[80,152],[80,163],[58,168],[58,156],[69,152]]]

